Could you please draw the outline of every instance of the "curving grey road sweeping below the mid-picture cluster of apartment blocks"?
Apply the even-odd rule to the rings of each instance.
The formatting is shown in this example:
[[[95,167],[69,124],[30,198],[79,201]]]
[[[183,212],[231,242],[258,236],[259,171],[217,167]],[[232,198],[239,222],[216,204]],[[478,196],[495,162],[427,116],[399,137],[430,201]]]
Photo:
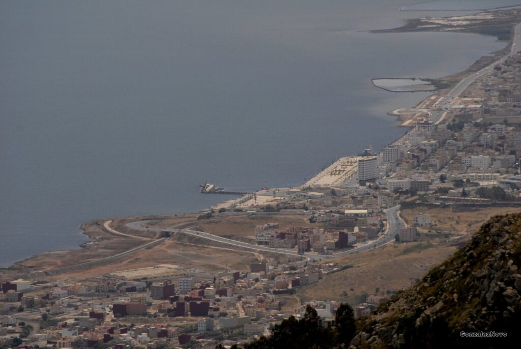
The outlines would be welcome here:
[[[375,248],[378,246],[381,246],[383,244],[389,243],[394,240],[394,235],[398,234],[400,232],[400,228],[403,227],[403,222],[401,221],[398,210],[400,209],[400,206],[395,206],[393,208],[390,208],[387,210],[387,216],[388,216],[388,229],[377,239],[374,241],[369,241],[364,244],[357,244],[354,248],[351,248],[351,250],[338,252],[330,255],[320,255],[316,253],[304,253],[299,254],[298,252],[294,250],[286,250],[284,248],[272,248],[268,246],[261,246],[261,245],[254,245],[249,244],[242,241],[232,240],[228,238],[223,238],[222,236],[202,232],[202,231],[196,231],[191,229],[166,229],[166,228],[154,228],[154,227],[148,227],[145,228],[143,225],[146,225],[146,222],[148,220],[141,220],[141,221],[134,221],[127,224],[130,228],[133,229],[140,229],[140,230],[153,230],[153,231],[168,231],[171,233],[180,233],[180,234],[187,234],[196,236],[198,238],[220,242],[227,245],[233,245],[235,248],[247,248],[249,250],[259,251],[259,252],[269,252],[269,253],[279,253],[284,254],[288,256],[302,256],[308,260],[324,260],[324,259],[331,259],[331,258],[337,258],[337,257],[343,257],[346,255],[363,252],[370,250],[371,248]]]

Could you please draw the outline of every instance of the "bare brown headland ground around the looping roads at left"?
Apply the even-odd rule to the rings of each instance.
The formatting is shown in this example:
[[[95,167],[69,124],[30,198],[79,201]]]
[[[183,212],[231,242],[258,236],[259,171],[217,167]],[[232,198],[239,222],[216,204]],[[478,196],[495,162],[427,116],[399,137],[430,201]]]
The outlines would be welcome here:
[[[48,270],[57,267],[76,265],[84,261],[101,259],[107,256],[127,251],[132,247],[147,242],[146,239],[132,238],[132,235],[139,235],[148,239],[158,238],[155,233],[146,234],[141,230],[133,230],[126,226],[126,223],[133,220],[157,218],[159,220],[151,221],[150,225],[182,227],[197,222],[196,215],[182,215],[169,217],[127,217],[116,218],[110,222],[110,228],[116,232],[107,231],[104,223],[109,220],[101,219],[85,223],[82,228],[85,233],[90,236],[93,243],[86,245],[88,248],[79,248],[71,251],[56,251],[35,255],[27,260],[21,261],[13,268],[0,269],[0,277],[9,277],[24,272],[34,272],[38,270]],[[248,217],[234,217],[233,219],[219,219],[224,221],[223,227],[216,229],[224,234],[229,227],[233,227],[236,234],[242,230],[241,227],[251,228],[253,235],[253,227],[258,224],[273,221],[263,217],[264,219],[251,219]],[[309,225],[304,217],[276,217],[276,221],[281,223],[283,228],[299,225]],[[216,219],[217,220],[217,219]],[[201,221],[201,220],[200,220]],[[199,222],[200,222],[199,221]],[[204,223],[210,228],[216,228],[217,223],[205,220]],[[212,220],[213,221],[213,220]],[[125,229],[126,228],[126,229]],[[215,230],[209,229],[214,232]],[[119,232],[124,234],[119,234]],[[125,235],[127,234],[127,235]],[[240,238],[240,236],[238,235]],[[195,236],[185,234],[177,234],[167,241],[158,245],[146,248],[136,254],[130,255],[127,259],[118,260],[114,263],[95,266],[90,269],[71,271],[70,273],[62,273],[56,276],[44,277],[42,279],[63,279],[70,278],[73,280],[81,280],[94,276],[102,276],[106,273],[116,270],[125,270],[133,268],[151,267],[156,264],[177,264],[183,268],[201,267],[207,272],[221,271],[227,268],[237,269],[240,271],[249,271],[249,265],[252,261],[258,259],[268,259],[271,265],[279,263],[289,263],[294,260],[293,257],[281,254],[258,253],[251,250],[237,250],[230,248],[229,245],[219,244],[203,240]]]

